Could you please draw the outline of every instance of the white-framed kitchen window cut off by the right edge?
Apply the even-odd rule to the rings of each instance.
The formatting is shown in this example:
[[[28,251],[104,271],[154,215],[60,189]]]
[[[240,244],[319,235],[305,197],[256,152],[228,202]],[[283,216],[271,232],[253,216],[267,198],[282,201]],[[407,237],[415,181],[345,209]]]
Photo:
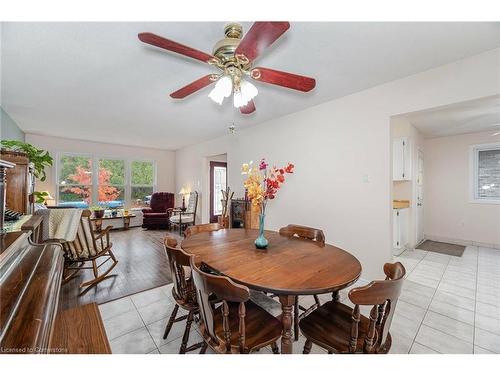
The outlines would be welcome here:
[[[500,143],[471,148],[473,201],[500,204]]]

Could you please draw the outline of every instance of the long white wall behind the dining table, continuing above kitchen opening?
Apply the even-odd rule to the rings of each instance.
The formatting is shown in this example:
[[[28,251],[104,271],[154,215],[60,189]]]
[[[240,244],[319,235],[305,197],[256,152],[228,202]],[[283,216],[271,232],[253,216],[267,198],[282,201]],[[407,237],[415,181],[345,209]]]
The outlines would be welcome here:
[[[203,160],[227,153],[229,186],[243,194],[240,165],[266,157],[296,173],[268,205],[267,227],[322,228],[354,254],[363,278],[392,259],[390,117],[499,93],[500,50],[377,86],[177,151],[177,187],[201,193]],[[318,85],[321,82],[318,82]],[[257,97],[257,101],[265,100]],[[364,183],[368,177],[368,183]],[[202,218],[207,222],[207,217]]]

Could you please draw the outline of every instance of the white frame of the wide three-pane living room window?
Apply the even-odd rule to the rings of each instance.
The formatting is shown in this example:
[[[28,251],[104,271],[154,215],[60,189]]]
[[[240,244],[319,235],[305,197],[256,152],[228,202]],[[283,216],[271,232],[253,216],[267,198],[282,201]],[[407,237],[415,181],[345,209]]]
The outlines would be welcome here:
[[[58,152],[56,154],[56,173],[55,173],[55,181],[54,185],[56,187],[56,202],[59,204],[59,188],[61,186],[61,158],[63,156],[79,156],[86,157],[92,160],[92,199],[89,203],[89,206],[97,205],[98,202],[98,186],[99,186],[99,160],[107,159],[107,160],[123,160],[125,162],[125,207],[132,207],[132,162],[140,161],[140,162],[148,162],[153,163],[153,193],[157,191],[157,163],[156,160],[153,159],[142,159],[142,158],[122,158],[119,156],[108,156],[101,154],[88,154],[84,152]],[[68,185],[69,186],[69,185]],[[143,185],[134,185],[134,186],[143,186]],[[144,185],[146,186],[146,185]],[[149,185],[147,185],[149,186]]]

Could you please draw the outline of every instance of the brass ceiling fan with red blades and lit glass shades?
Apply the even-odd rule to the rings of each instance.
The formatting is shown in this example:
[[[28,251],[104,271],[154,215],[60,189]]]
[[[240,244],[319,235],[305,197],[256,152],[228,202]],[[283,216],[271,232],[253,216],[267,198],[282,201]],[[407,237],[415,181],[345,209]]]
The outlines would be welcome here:
[[[220,105],[224,98],[233,94],[234,107],[243,114],[250,114],[255,111],[253,98],[258,90],[248,78],[303,92],[316,86],[314,78],[253,67],[253,62],[262,52],[289,28],[288,22],[255,22],[243,36],[241,25],[231,23],[224,28],[225,38],[215,44],[212,55],[152,33],[140,33],[138,37],[144,43],[200,60],[221,70],[221,73],[207,74],[171,93],[172,98],[183,99],[216,82],[209,98]]]

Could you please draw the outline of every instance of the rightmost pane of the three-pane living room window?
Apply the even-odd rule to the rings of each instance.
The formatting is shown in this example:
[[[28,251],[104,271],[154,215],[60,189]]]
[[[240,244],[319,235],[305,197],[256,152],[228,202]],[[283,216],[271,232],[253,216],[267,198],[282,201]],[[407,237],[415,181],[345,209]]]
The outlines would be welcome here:
[[[132,206],[148,206],[154,190],[154,164],[150,161],[132,162]]]

